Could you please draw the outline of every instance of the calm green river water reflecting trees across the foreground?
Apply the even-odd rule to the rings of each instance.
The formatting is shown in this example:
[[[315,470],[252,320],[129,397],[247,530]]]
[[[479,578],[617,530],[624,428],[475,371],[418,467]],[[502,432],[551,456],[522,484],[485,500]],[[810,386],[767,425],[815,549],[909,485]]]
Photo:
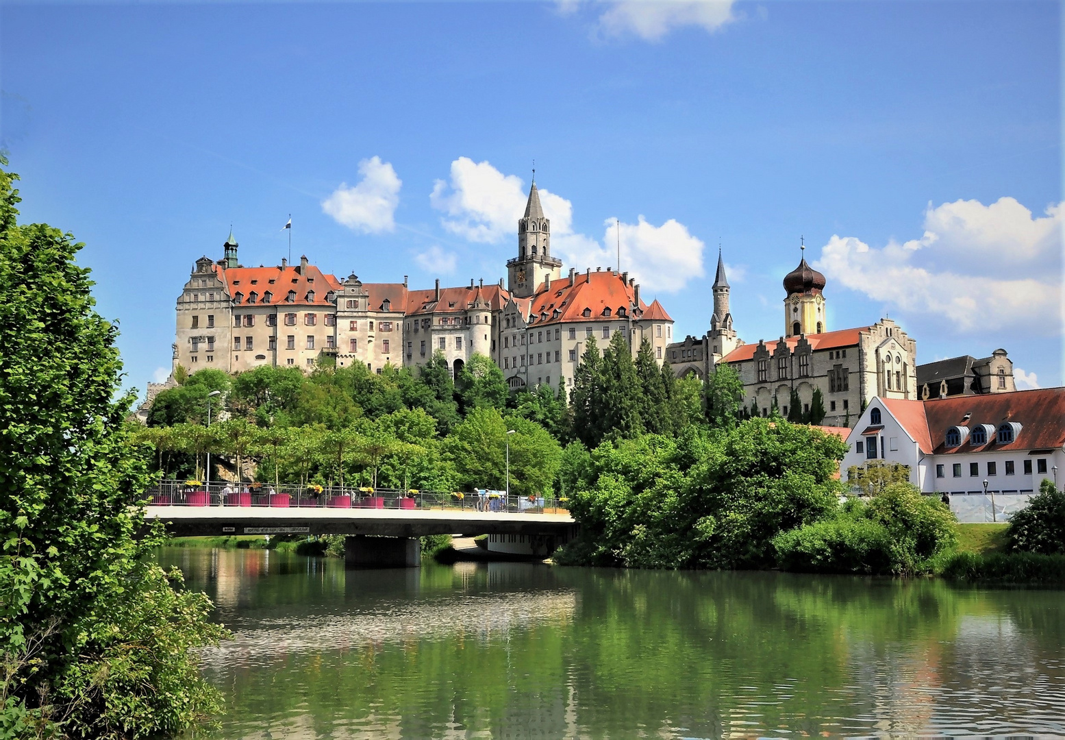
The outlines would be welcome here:
[[[1065,592],[167,548],[214,738],[1065,735]]]

